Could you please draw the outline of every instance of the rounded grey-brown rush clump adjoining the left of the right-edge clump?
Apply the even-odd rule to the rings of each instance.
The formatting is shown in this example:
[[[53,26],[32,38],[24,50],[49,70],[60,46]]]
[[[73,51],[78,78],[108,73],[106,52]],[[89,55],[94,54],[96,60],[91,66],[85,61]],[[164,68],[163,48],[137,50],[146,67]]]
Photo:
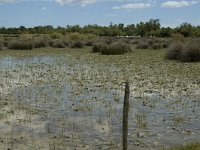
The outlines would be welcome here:
[[[183,45],[181,43],[172,43],[172,45],[170,45],[167,53],[166,53],[166,59],[170,59],[170,60],[178,60],[181,57],[181,53],[183,50]]]

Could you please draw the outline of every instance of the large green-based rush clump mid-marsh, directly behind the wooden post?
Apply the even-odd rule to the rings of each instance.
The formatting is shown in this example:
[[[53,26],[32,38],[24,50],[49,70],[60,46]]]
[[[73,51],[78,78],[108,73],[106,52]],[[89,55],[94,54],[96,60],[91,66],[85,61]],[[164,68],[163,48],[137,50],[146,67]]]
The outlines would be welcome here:
[[[132,50],[129,45],[120,42],[115,42],[110,45],[103,45],[101,48],[102,55],[122,55],[131,51]]]

